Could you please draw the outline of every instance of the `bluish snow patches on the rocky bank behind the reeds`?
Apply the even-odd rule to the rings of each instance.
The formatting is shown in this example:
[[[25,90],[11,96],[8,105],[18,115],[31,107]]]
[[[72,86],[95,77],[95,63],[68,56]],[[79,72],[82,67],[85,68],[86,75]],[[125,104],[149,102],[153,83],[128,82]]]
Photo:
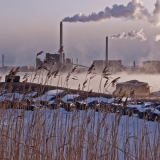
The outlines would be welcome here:
[[[57,104],[57,101],[55,101],[55,98],[57,95],[63,93],[64,90],[60,90],[60,89],[55,89],[55,90],[49,90],[46,93],[44,93],[43,95],[39,96],[39,97],[34,97],[34,96],[38,96],[37,92],[32,92],[32,93],[28,93],[27,95],[23,95],[23,94],[19,94],[19,93],[4,93],[0,96],[0,100],[10,100],[12,101],[13,99],[19,99],[22,100],[23,99],[28,99],[30,97],[34,97],[32,98],[34,100],[35,106],[37,106],[38,104],[40,104],[39,102],[41,101],[46,101],[48,102],[48,105],[51,104]],[[62,94],[63,95],[63,94]],[[66,94],[65,96],[62,96],[61,99],[62,102],[67,103],[67,102],[71,102],[73,101],[75,98],[80,97],[79,94]],[[126,100],[126,98],[124,97],[122,99],[122,102],[124,102]],[[156,108],[156,106],[154,106],[153,102],[150,101],[146,101],[146,102],[141,102],[138,104],[134,104],[133,102],[130,103],[130,99],[128,98],[128,108],[133,108],[133,109],[137,109],[139,112],[145,112],[150,110],[150,112],[155,113],[157,115],[160,116],[160,111],[158,108]],[[74,101],[73,101],[74,102]],[[78,100],[78,102],[80,104],[90,104],[92,102],[97,102],[97,103],[104,103],[104,104],[110,104],[110,103],[114,103],[114,105],[116,106],[116,102],[115,102],[115,98],[105,98],[105,97],[88,97],[86,99],[83,100]],[[32,104],[34,105],[34,104]],[[118,106],[120,106],[121,104],[118,104]]]

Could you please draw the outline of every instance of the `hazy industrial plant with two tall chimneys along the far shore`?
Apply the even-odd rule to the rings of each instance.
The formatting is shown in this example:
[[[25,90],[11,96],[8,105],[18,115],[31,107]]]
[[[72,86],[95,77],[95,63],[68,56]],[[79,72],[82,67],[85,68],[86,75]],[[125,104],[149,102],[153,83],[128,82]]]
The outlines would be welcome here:
[[[106,37],[106,46],[105,46],[105,54],[104,54],[104,59],[99,60],[95,59],[93,60],[96,68],[97,73],[101,73],[104,66],[108,65],[109,71],[114,74],[118,72],[126,72],[129,74],[133,73],[146,73],[146,74],[159,74],[160,73],[160,61],[144,61],[142,64],[136,65],[136,62],[133,61],[132,66],[124,66],[122,63],[122,60],[110,60],[109,57],[109,52],[108,52],[108,42],[109,42],[109,37]],[[55,53],[46,53],[46,56],[44,60],[41,60],[40,58],[36,58],[36,66],[21,66],[20,67],[20,72],[33,72],[38,69],[38,67],[46,61],[46,67],[52,70],[59,70],[61,72],[68,72],[70,71],[74,66],[77,66],[77,72],[83,73],[86,72],[89,68],[89,66],[85,66],[79,63],[79,59],[76,57],[73,58],[65,58],[65,53],[64,53],[64,45],[63,45],[63,23],[60,22],[60,50]],[[52,66],[53,62],[56,62],[54,67]],[[2,54],[2,67],[0,67],[0,72],[8,72],[12,68],[16,68],[18,66],[5,66],[4,65],[4,54]]]

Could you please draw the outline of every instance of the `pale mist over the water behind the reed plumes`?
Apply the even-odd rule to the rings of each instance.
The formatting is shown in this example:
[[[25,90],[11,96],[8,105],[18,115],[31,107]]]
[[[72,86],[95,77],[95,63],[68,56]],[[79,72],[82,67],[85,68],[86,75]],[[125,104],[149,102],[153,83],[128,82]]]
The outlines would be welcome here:
[[[23,81],[23,76],[25,75],[25,73],[20,73],[19,75],[21,75],[21,82]],[[32,79],[33,79],[34,74],[32,75]],[[50,80],[46,83],[47,85],[53,85],[53,86],[59,86],[59,87],[66,87],[67,84],[65,82],[67,74],[61,74],[61,76],[56,77],[56,78],[50,78]],[[78,80],[73,80],[72,78],[74,76],[77,76]],[[130,81],[130,80],[138,80],[141,82],[147,82],[150,86],[150,91],[154,92],[154,91],[160,91],[160,75],[149,75],[149,74],[126,74],[126,73],[118,73],[118,74],[113,74],[111,75],[111,79],[109,81],[109,83],[117,78],[117,77],[121,77],[118,82],[125,82],[125,81]],[[86,83],[86,87],[85,87],[85,91],[87,90],[93,90],[94,92],[100,92],[99,90],[99,84],[100,84],[100,80],[101,80],[101,76],[100,75],[96,75],[93,79],[90,80],[90,84],[89,84],[89,79],[90,79],[90,75],[87,76],[88,82]],[[34,80],[34,83],[42,83],[44,84],[46,80],[46,76],[45,74],[43,74],[43,76],[41,75],[40,77],[37,76],[37,78]],[[70,79],[68,81],[68,88],[71,89],[78,89],[79,84],[80,84],[80,88],[82,89],[83,83],[86,80],[86,74],[71,74]],[[28,82],[31,81],[31,75],[28,78]],[[4,82],[4,75],[2,78],[2,82]],[[102,80],[102,85],[101,85],[101,92],[104,92],[104,83],[105,83],[105,79]],[[105,93],[112,93],[115,90],[115,87],[112,87],[112,85],[110,85],[108,87],[108,92]]]

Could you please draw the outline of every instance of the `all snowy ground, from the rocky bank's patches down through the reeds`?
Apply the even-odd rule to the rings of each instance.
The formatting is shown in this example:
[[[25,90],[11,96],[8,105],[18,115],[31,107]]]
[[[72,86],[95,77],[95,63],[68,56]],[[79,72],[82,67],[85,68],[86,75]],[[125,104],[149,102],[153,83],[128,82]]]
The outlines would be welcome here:
[[[63,90],[49,90],[40,97],[35,97],[36,92],[25,96],[18,93],[1,95],[1,102],[32,98],[31,105],[34,107],[32,111],[14,107],[0,109],[0,135],[1,138],[7,136],[3,144],[7,150],[4,154],[6,157],[10,159],[13,151],[18,150],[21,159],[27,153],[31,154],[29,158],[43,159],[46,156],[43,153],[46,152],[49,159],[57,159],[62,155],[64,159],[159,158],[160,123],[157,119],[152,119],[153,115],[160,118],[158,103],[128,102],[122,113],[122,104],[116,103],[114,98],[88,97],[78,101],[87,106],[85,110],[81,110],[76,107],[75,102],[80,95],[66,94],[61,97],[59,107],[52,108],[51,106],[57,105],[56,96],[61,93]],[[44,101],[48,104],[42,105],[41,102]],[[75,105],[68,112],[63,106],[65,104],[68,107]],[[141,113],[147,113],[147,118],[140,117]],[[15,141],[18,141],[17,148],[13,149],[10,146]],[[38,156],[35,156],[35,150],[26,152],[26,145],[29,148],[33,145],[38,150]],[[61,147],[63,149],[59,150]],[[0,149],[0,152],[4,151]],[[77,152],[81,154],[75,154]]]

